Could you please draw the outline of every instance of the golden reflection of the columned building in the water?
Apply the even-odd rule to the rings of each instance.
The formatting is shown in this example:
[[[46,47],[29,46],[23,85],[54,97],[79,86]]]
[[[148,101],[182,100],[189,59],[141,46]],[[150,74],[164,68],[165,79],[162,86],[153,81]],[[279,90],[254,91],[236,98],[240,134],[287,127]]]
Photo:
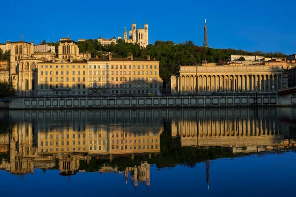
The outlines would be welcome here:
[[[284,146],[284,133],[276,120],[204,119],[172,122],[172,135],[182,146]]]

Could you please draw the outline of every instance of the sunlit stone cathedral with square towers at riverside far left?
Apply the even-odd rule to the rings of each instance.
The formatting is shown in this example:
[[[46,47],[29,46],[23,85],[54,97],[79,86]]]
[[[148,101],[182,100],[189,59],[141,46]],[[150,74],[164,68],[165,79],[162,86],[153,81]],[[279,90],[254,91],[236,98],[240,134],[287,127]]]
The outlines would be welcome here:
[[[10,42],[10,81],[19,96],[37,95],[38,63],[54,60],[84,60],[90,53],[79,53],[77,43],[68,38],[61,38],[58,54],[55,52],[36,52],[33,40],[30,42]]]

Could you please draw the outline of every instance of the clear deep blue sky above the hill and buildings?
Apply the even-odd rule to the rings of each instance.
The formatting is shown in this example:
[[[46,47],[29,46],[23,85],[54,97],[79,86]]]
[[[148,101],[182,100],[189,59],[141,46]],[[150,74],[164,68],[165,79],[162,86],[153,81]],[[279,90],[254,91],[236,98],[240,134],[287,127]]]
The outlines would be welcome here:
[[[1,1],[0,43],[40,43],[61,37],[123,36],[135,19],[149,25],[149,43],[192,40],[203,44],[204,19],[212,48],[296,53],[293,0],[5,0]]]

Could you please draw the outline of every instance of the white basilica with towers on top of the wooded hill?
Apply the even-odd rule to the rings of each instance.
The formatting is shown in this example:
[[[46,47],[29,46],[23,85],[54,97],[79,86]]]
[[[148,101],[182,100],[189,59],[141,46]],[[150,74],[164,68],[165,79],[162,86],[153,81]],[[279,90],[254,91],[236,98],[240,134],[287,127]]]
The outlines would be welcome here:
[[[141,47],[146,48],[148,45],[148,24],[145,23],[144,29],[142,28],[142,25],[140,25],[140,28],[137,30],[137,25],[134,21],[129,31],[129,37],[127,37],[126,28],[124,27],[123,41],[139,44]]]

